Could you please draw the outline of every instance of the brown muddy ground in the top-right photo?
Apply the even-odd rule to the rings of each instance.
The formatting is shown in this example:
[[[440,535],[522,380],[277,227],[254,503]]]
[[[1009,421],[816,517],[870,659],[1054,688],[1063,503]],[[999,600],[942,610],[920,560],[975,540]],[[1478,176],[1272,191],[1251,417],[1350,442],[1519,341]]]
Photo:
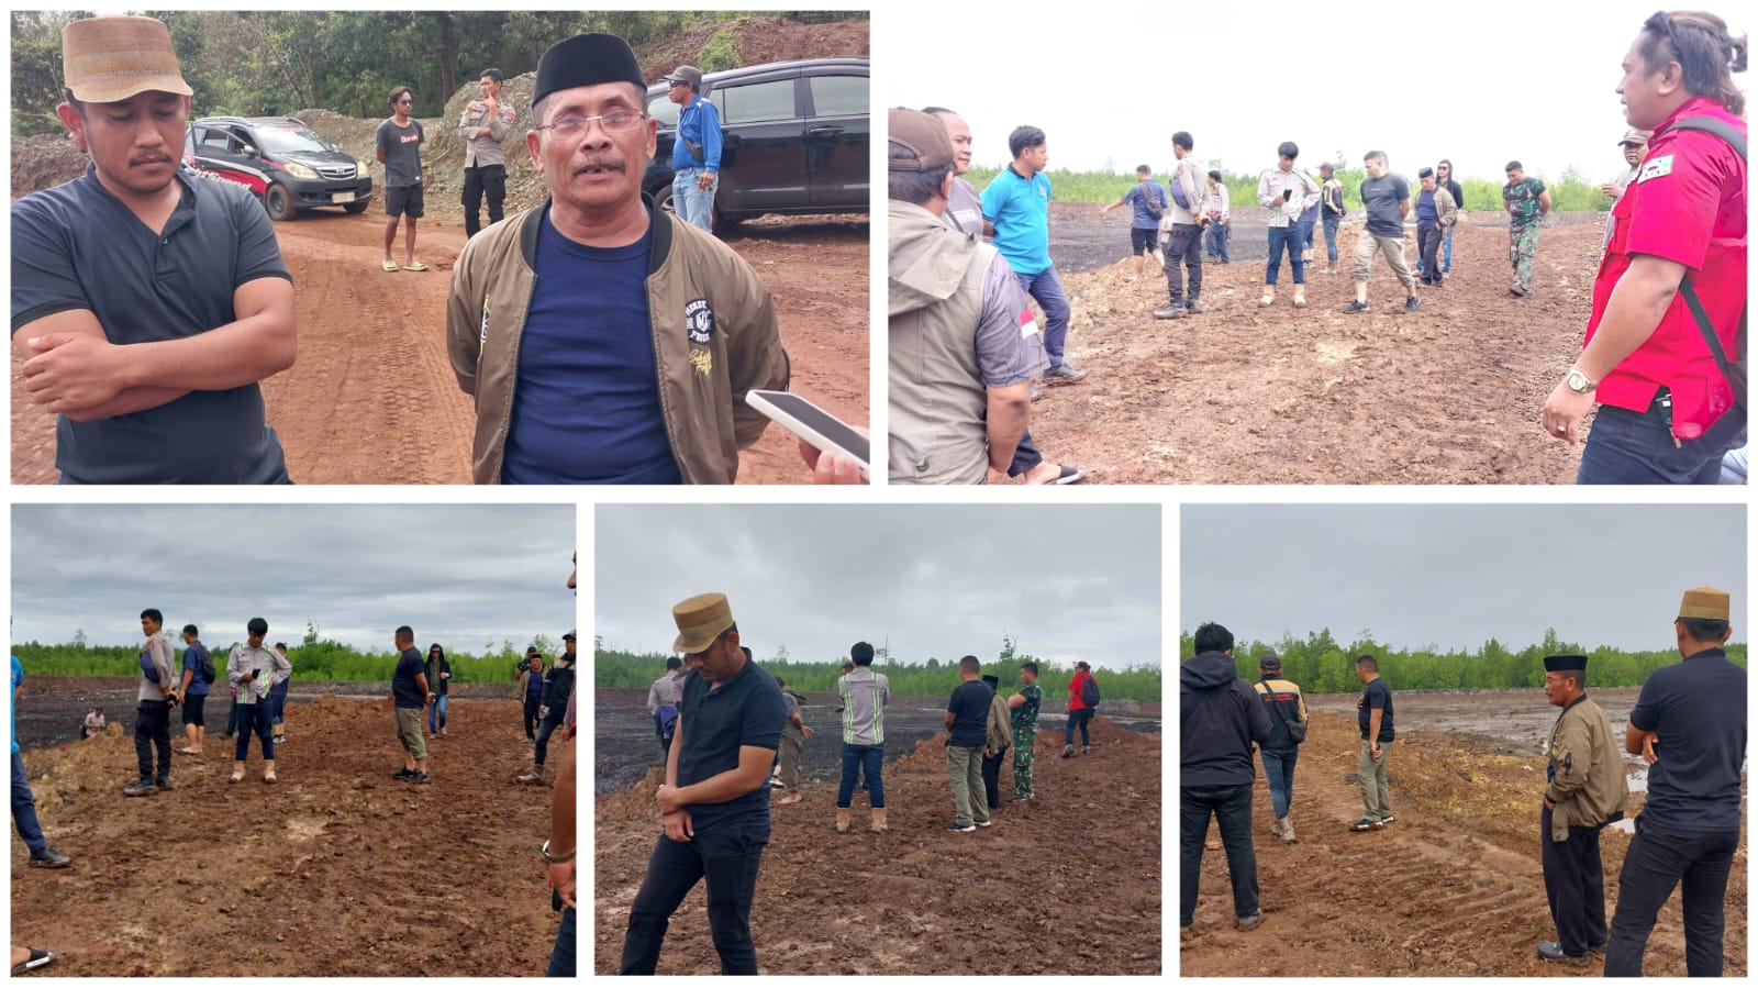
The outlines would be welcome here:
[[[1422,288],[1410,315],[1384,257],[1373,308],[1341,311],[1359,223],[1340,234],[1343,272],[1308,276],[1306,308],[1292,306],[1287,265],[1275,306],[1260,308],[1264,227],[1234,222],[1232,264],[1202,271],[1206,311],[1155,320],[1166,278],[1150,258],[1127,281],[1127,218],[1051,204],[1051,257],[1074,309],[1069,359],[1090,376],[1034,404],[1046,457],[1104,483],[1573,480],[1580,450],[1545,436],[1538,408],[1580,352],[1602,214],[1559,214],[1544,230],[1526,299],[1508,295],[1505,220],[1473,214],[1447,283]]]

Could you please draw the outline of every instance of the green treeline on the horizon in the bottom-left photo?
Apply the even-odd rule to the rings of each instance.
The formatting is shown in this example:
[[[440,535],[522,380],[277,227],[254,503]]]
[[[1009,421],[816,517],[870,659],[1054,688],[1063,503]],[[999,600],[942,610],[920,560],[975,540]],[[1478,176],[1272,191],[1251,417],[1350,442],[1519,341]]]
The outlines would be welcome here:
[[[171,633],[171,645],[178,661],[183,661],[183,638]],[[216,682],[225,680],[225,659],[234,642],[202,642],[214,661]],[[545,663],[561,652],[559,642],[548,642],[541,635],[534,642]],[[427,656],[427,645],[415,643]],[[141,675],[141,645],[42,645],[39,642],[16,642],[12,654],[25,663],[30,675]],[[306,640],[288,643],[288,661],[294,663],[294,679],[320,682],[390,682],[390,673],[397,668],[396,652],[360,652],[341,642]],[[454,652],[447,649],[447,661],[452,663],[454,682],[513,682],[519,679],[517,665],[522,657],[512,642],[503,642],[499,649],[492,643],[480,654]]]

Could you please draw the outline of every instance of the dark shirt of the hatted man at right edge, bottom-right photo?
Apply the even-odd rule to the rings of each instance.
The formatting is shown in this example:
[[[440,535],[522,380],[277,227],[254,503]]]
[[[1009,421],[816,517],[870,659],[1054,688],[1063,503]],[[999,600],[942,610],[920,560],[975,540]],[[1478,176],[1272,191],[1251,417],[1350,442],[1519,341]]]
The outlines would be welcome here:
[[[1665,830],[1739,832],[1746,758],[1746,670],[1705,649],[1649,673],[1630,710],[1656,731],[1642,819]]]

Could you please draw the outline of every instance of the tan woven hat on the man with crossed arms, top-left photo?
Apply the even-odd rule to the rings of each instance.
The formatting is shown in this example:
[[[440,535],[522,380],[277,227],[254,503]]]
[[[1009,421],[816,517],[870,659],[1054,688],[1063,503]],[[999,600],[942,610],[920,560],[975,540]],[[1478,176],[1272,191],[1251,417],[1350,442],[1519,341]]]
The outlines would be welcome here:
[[[74,98],[113,104],[135,93],[195,95],[171,30],[156,18],[86,18],[62,28],[62,74]]]

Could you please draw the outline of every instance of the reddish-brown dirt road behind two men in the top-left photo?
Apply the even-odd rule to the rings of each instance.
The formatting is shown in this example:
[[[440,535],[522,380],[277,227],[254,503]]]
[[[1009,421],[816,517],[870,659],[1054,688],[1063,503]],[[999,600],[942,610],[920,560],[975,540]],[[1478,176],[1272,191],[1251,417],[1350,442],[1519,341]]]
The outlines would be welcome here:
[[[469,483],[475,410],[445,352],[445,299],[464,246],[457,220],[420,225],[425,274],[378,267],[385,220],[302,213],[276,223],[294,276],[299,360],[264,381],[269,424],[297,483]],[[867,424],[867,223],[758,220],[726,236],[770,287],[793,390]],[[401,234],[399,244],[401,250]],[[54,418],[12,360],[12,482],[53,483]],[[809,483],[795,441],[770,427],[740,457],[740,483]]]

